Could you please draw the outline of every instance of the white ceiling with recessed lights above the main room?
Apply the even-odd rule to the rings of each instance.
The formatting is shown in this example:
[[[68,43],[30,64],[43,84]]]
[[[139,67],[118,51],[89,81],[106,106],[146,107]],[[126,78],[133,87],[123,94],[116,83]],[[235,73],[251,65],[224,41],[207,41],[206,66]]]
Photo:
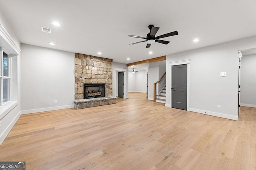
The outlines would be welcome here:
[[[255,0],[0,0],[0,11],[20,42],[120,63],[255,36],[255,9]],[[142,41],[128,35],[145,37],[150,24],[160,27],[156,36],[176,30],[179,35],[162,38],[168,45],[128,45]],[[52,34],[41,32],[42,26]],[[194,43],[194,38],[200,41]]]

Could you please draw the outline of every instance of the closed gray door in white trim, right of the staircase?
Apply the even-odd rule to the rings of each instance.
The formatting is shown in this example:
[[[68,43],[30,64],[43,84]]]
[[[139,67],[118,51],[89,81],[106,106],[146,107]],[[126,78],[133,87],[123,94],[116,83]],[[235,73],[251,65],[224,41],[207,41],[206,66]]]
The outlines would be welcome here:
[[[187,65],[172,66],[172,107],[187,110]]]

